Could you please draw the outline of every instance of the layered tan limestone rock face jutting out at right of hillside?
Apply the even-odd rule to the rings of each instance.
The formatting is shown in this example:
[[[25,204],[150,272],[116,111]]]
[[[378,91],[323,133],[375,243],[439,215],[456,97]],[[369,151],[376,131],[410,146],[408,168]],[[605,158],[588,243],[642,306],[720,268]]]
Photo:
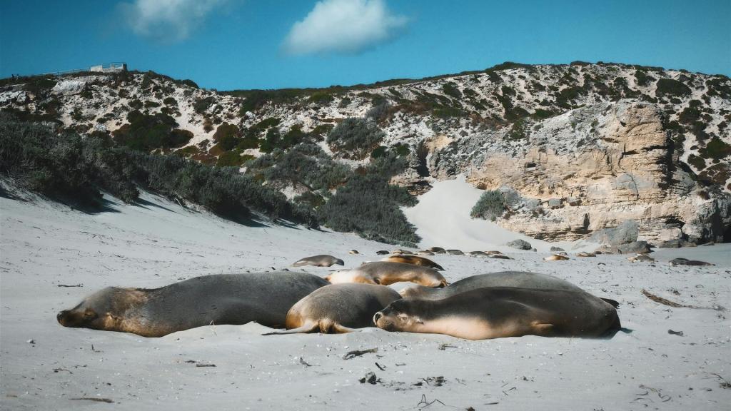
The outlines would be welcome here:
[[[534,125],[522,148],[488,146],[468,161],[480,135],[436,154],[432,165],[457,162],[475,186],[514,189],[523,201],[498,224],[534,238],[575,240],[605,227],[616,246],[641,238],[722,241],[731,200],[697,184],[683,170],[661,108],[621,100],[589,105]],[[459,147],[462,144],[466,147]]]

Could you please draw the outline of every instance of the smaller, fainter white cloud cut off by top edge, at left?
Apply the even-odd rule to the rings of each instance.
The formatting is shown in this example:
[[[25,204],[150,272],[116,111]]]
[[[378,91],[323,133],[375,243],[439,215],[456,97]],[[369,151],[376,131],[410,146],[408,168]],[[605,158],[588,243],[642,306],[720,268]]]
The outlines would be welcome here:
[[[227,0],[135,0],[120,4],[127,24],[142,37],[174,42],[186,39]]]

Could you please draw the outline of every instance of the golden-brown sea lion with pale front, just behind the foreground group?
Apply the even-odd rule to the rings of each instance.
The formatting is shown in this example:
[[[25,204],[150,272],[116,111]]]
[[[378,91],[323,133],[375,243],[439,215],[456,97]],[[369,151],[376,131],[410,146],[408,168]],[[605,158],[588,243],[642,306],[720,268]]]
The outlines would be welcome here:
[[[333,284],[360,282],[363,284],[388,285],[395,282],[415,282],[425,287],[445,287],[447,280],[433,268],[404,263],[376,261],[352,270],[336,271],[325,277]]]

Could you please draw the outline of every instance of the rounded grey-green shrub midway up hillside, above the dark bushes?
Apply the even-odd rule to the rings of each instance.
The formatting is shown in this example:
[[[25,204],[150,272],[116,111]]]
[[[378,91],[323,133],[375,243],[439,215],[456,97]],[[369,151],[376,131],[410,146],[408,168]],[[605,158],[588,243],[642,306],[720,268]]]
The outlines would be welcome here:
[[[346,118],[327,135],[327,144],[344,158],[364,159],[384,139],[385,133],[366,118]]]

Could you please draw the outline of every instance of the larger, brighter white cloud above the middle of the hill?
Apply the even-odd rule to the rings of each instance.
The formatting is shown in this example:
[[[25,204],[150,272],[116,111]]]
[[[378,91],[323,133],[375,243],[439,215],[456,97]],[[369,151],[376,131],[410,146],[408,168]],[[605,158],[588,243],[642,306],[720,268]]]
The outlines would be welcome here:
[[[291,54],[357,53],[395,37],[408,19],[394,15],[382,0],[321,0],[289,30]]]

